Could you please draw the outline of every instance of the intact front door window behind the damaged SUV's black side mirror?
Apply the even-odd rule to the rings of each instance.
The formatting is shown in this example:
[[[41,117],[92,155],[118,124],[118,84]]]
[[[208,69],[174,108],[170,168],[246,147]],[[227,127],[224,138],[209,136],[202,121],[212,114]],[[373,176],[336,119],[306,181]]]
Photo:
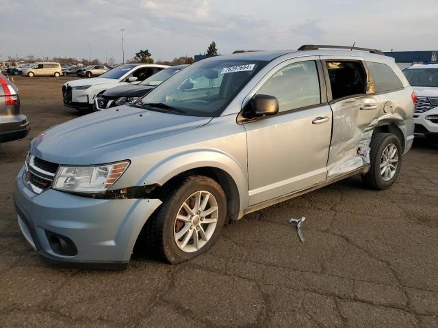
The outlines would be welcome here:
[[[257,94],[276,97],[279,111],[320,104],[320,80],[315,61],[301,61],[281,68]]]

